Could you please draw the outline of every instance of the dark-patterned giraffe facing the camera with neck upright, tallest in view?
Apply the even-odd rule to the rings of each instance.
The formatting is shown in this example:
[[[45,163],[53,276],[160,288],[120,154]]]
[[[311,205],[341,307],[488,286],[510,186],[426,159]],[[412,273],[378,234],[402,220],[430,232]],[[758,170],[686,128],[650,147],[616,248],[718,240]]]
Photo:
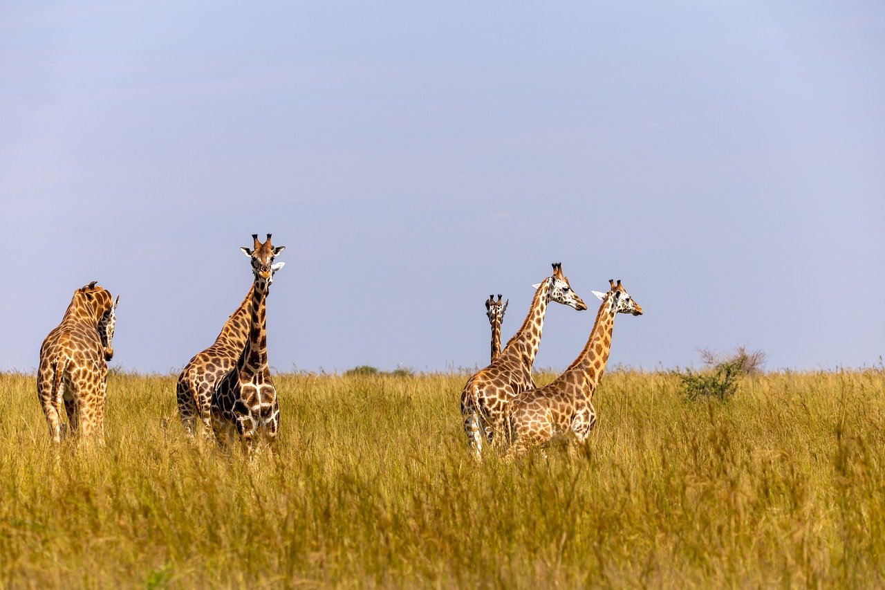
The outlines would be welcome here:
[[[234,431],[249,451],[264,432],[273,442],[280,423],[280,400],[267,367],[266,299],[273,274],[285,262],[273,262],[286,246],[264,244],[252,234],[253,249],[243,247],[250,257],[254,283],[251,290],[249,338],[236,365],[227,371],[212,392],[212,431],[221,446],[227,446]]]

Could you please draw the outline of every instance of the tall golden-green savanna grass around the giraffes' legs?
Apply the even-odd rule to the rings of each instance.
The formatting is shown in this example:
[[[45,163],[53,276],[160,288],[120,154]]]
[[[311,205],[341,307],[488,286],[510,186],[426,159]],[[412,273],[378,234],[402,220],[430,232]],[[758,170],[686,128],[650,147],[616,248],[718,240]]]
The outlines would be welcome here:
[[[250,461],[186,439],[173,377],[112,375],[104,447],[54,449],[34,377],[0,374],[0,585],[885,584],[881,369],[727,402],[612,371],[587,446],[509,465],[468,454],[465,380],[280,375]]]

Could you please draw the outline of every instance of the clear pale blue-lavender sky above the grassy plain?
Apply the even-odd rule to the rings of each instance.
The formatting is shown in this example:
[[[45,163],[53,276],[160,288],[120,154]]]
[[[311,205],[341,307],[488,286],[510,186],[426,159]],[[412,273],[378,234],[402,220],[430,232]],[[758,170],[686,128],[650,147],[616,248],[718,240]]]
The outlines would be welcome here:
[[[879,1],[4,3],[0,112],[0,369],[92,280],[112,365],[181,369],[268,232],[279,370],[484,365],[555,261],[539,367],[610,277],[610,362],[885,354]]]

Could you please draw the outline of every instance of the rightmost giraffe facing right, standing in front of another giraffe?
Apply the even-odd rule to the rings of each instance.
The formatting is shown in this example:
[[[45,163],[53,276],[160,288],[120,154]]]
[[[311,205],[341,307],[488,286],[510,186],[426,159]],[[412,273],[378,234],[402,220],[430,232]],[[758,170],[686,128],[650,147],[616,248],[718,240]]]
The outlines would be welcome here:
[[[587,440],[596,423],[593,392],[603,376],[612,347],[612,328],[617,314],[642,315],[639,306],[620,285],[609,280],[607,293],[593,291],[602,299],[587,345],[552,383],[520,393],[507,413],[507,456],[522,454],[529,446],[543,445],[572,432],[578,442]]]

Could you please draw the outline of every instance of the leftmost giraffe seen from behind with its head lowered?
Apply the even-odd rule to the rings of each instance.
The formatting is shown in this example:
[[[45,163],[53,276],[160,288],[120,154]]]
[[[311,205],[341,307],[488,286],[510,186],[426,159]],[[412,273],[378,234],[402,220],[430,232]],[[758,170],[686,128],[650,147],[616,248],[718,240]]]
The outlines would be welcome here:
[[[61,323],[40,346],[37,398],[55,443],[61,442],[67,430],[61,422],[62,400],[70,431],[82,429],[84,438],[104,439],[104,396],[107,361],[113,357],[115,307],[111,293],[96,281],[73,291]]]

